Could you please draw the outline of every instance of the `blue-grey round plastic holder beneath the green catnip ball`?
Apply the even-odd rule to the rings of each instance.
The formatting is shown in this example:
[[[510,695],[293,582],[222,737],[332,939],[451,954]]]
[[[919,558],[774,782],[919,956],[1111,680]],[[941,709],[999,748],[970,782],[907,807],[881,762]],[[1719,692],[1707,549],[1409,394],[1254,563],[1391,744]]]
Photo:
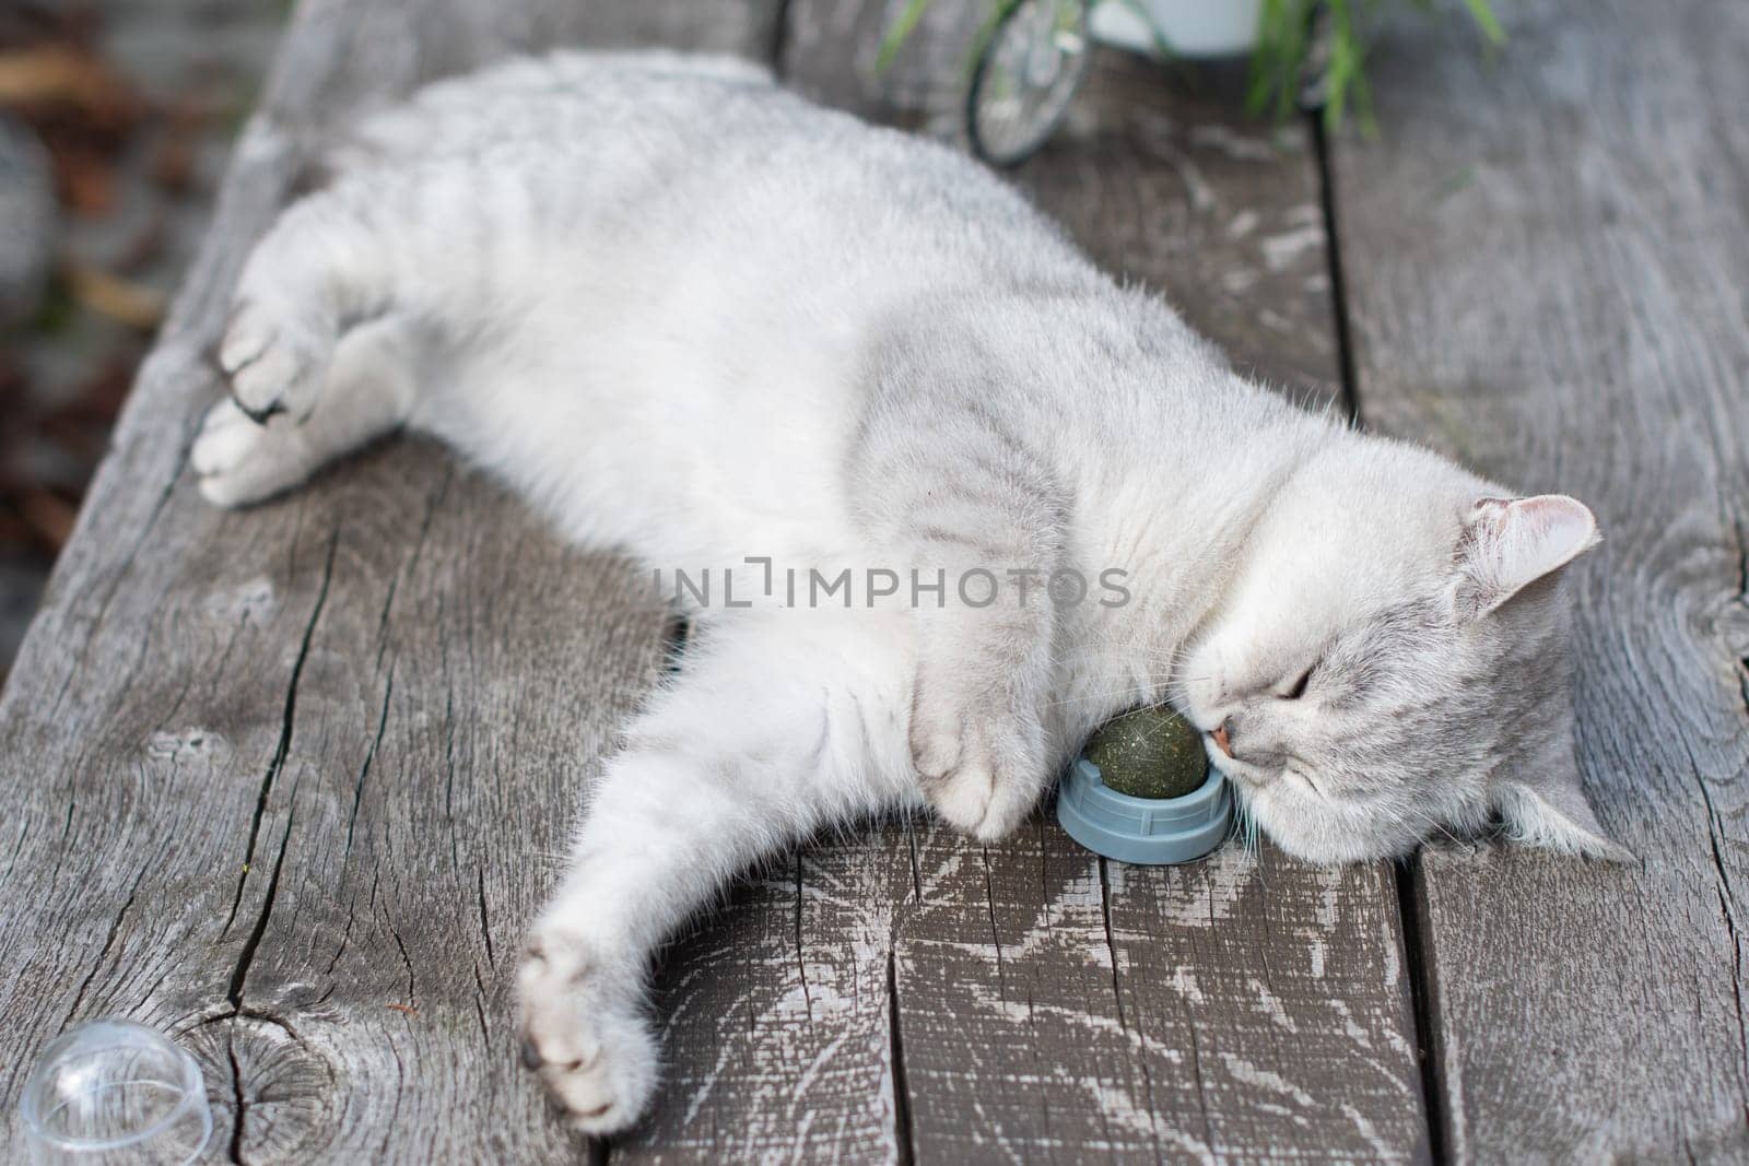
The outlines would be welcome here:
[[[1056,792],[1056,820],[1097,855],[1137,865],[1202,858],[1226,841],[1233,795],[1214,766],[1184,797],[1130,797],[1100,781],[1098,766],[1077,757]]]

